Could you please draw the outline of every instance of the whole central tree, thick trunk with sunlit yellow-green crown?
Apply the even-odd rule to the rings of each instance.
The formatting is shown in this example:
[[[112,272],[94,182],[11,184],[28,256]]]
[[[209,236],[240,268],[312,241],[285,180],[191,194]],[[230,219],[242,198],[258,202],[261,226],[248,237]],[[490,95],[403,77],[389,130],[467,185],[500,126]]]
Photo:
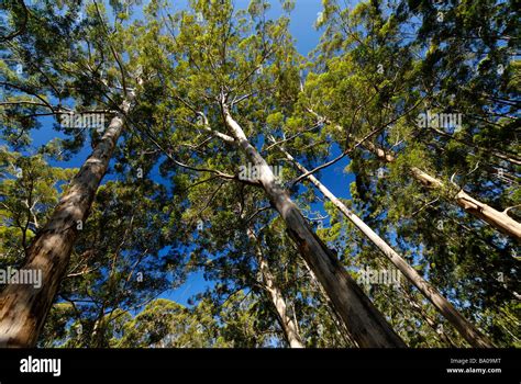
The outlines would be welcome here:
[[[170,16],[175,69],[166,87],[173,91],[173,108],[177,106],[171,116],[185,120],[176,131],[185,126],[193,132],[192,122],[200,118],[199,132],[213,133],[231,154],[242,156],[244,167],[250,163],[258,170],[256,177],[246,179],[264,191],[281,215],[300,255],[359,346],[403,347],[336,256],[313,233],[288,191],[276,181],[269,159],[255,147],[267,115],[274,109],[288,108],[298,88],[299,58],[287,32],[288,19],[266,21],[267,7],[264,1],[252,1],[247,11],[235,12],[229,1],[190,1],[192,13]],[[285,3],[286,9],[290,7]],[[208,161],[215,163],[214,159]],[[213,173],[219,176],[219,171]],[[225,174],[244,179],[236,171]]]

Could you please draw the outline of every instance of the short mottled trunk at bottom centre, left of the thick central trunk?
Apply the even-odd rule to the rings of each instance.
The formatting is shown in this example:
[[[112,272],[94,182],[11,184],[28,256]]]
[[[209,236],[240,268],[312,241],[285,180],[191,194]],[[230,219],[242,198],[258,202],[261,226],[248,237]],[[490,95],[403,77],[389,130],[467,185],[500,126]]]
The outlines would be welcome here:
[[[277,313],[282,331],[288,340],[289,347],[291,348],[304,348],[302,339],[299,335],[297,321],[289,316],[286,301],[284,300],[282,293],[280,292],[275,276],[269,270],[269,264],[266,258],[263,256],[263,251],[257,242],[257,238],[251,228],[247,229],[247,236],[255,245],[255,256],[258,262],[258,269],[264,280],[265,290],[269,294],[269,298],[274,305],[274,308]]]

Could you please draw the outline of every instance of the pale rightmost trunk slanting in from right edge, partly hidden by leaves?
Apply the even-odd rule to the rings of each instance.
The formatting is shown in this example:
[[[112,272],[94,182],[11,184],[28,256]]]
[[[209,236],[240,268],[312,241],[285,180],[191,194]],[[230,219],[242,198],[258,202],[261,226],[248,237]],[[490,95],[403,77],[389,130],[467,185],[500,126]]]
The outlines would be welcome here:
[[[375,154],[378,159],[385,162],[395,161],[395,157],[392,155],[387,154],[384,149],[378,148],[370,142],[364,143],[363,146],[373,154]],[[417,167],[411,168],[411,173],[414,179],[420,181],[426,188],[442,189],[444,187],[441,180],[433,178],[432,176],[428,174],[426,172],[423,172]],[[463,190],[454,196],[454,201],[457,205],[464,208],[465,212],[468,212],[470,215],[474,215],[483,219],[484,222],[490,224],[499,231],[513,237],[518,241],[521,241],[521,224],[516,222],[506,212],[499,212],[492,208],[490,205],[481,203],[480,201],[472,197]]]

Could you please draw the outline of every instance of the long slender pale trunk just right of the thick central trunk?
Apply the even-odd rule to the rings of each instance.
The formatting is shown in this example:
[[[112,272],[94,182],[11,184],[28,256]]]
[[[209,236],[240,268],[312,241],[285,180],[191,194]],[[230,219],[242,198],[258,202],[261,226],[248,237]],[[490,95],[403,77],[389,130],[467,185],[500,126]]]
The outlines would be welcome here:
[[[280,148],[280,147],[279,147]],[[285,149],[280,150],[286,155],[302,173],[308,173],[308,170],[299,163]],[[323,185],[313,174],[308,174],[310,180],[330,200],[345,217],[347,217],[400,272],[435,306],[442,314],[467,340],[473,347],[494,347],[492,343],[479,332],[467,319],[465,319],[454,306],[443,297],[437,290],[425,281],[409,263],[396,252],[378,234],[376,234],[367,224],[365,224],[357,215],[355,215],[344,203]]]

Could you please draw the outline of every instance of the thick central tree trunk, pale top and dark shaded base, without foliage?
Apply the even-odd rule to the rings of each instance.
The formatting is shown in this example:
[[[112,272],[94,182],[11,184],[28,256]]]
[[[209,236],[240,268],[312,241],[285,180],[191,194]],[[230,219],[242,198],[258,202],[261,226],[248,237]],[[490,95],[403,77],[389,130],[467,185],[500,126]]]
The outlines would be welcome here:
[[[222,113],[236,145],[259,170],[258,181],[266,195],[285,221],[300,255],[324,287],[353,339],[361,347],[406,347],[383,314],[345,271],[336,256],[310,228],[289,194],[277,182],[266,160],[250,144],[224,102]]]

